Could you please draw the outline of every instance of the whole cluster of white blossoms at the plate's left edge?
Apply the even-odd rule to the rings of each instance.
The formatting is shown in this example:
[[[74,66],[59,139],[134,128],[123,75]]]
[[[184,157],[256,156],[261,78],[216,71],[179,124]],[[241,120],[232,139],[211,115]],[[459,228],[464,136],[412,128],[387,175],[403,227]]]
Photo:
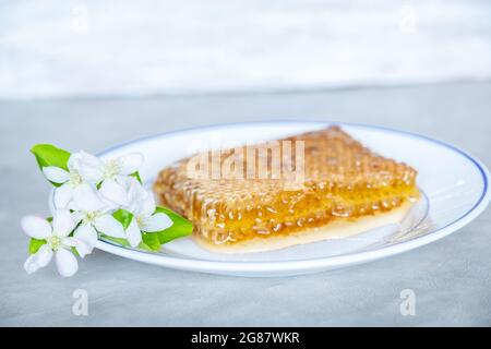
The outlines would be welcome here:
[[[100,234],[124,239],[136,248],[143,232],[171,227],[172,220],[156,212],[153,194],[134,176],[143,161],[141,154],[104,160],[80,152],[70,156],[65,169],[43,167],[45,177],[57,186],[52,219],[22,219],[24,232],[44,242],[25,262],[25,270],[32,274],[45,267],[55,255],[60,275],[70,277],[79,269],[75,254],[83,258],[92,253]],[[121,209],[132,216],[125,228],[113,216]]]

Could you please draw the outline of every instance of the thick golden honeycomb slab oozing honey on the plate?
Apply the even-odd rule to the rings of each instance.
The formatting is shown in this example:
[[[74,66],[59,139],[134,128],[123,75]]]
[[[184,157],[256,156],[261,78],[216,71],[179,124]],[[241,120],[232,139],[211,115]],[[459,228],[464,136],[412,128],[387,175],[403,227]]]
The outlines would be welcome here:
[[[338,127],[280,141],[303,141],[298,188],[272,179],[270,168],[266,179],[193,179],[187,158],[161,170],[154,191],[163,205],[193,222],[197,242],[224,252],[355,234],[400,221],[420,196],[415,169],[374,154]],[[271,154],[263,156],[271,165]]]

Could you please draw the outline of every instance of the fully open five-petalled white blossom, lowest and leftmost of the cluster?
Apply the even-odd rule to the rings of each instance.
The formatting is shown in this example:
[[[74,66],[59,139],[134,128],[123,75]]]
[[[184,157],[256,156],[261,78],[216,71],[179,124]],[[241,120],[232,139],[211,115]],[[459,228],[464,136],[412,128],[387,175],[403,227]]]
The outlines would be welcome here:
[[[76,221],[68,209],[57,210],[52,224],[37,216],[26,216],[22,219],[22,228],[31,238],[46,240],[46,243],[24,264],[28,274],[49,264],[52,255],[56,255],[58,272],[63,277],[73,276],[79,269],[79,263],[71,249],[86,251],[83,241],[69,238],[75,228]]]

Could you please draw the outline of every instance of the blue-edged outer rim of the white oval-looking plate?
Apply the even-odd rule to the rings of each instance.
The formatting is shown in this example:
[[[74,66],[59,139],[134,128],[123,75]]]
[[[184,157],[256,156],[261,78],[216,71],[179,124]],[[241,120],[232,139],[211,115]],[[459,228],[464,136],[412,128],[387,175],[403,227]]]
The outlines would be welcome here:
[[[391,129],[391,128],[385,128],[385,127],[375,127],[375,125],[369,125],[369,124],[360,124],[360,123],[350,123],[350,122],[332,122],[332,121],[288,121],[288,120],[283,120],[283,121],[265,121],[265,122],[237,122],[237,123],[226,123],[226,124],[215,124],[215,125],[209,125],[209,127],[195,127],[195,128],[189,128],[189,129],[184,129],[184,130],[177,130],[177,131],[170,131],[170,132],[164,132],[160,134],[156,134],[156,135],[151,135],[147,137],[143,137],[143,139],[139,139],[139,140],[134,140],[134,141],[130,141],[120,145],[117,145],[115,147],[108,148],[105,152],[99,153],[99,156],[104,156],[108,153],[113,152],[117,148],[122,148],[122,147],[127,147],[130,145],[137,145],[140,143],[143,142],[147,142],[147,141],[152,141],[152,140],[156,140],[156,139],[160,139],[163,136],[168,136],[168,135],[177,135],[180,133],[189,133],[192,131],[212,131],[214,129],[216,130],[226,130],[229,128],[238,128],[238,127],[252,127],[252,125],[273,125],[273,124],[291,124],[291,123],[311,123],[311,124],[319,124],[319,125],[347,125],[347,127],[354,127],[354,128],[359,128],[359,129],[366,129],[366,130],[381,130],[381,131],[386,131],[386,132],[391,132],[391,133],[396,133],[396,134],[405,134],[405,135],[409,135],[411,137],[415,139],[420,139],[420,140],[424,140],[427,142],[433,143],[433,144],[438,144],[441,145],[447,149],[451,149],[454,153],[459,154],[460,156],[465,157],[467,160],[469,160],[471,164],[474,164],[474,166],[479,170],[481,177],[482,177],[482,181],[483,181],[483,190],[482,193],[479,197],[479,200],[476,202],[476,204],[472,206],[472,208],[470,208],[467,213],[465,213],[464,215],[462,215],[460,217],[458,217],[457,219],[453,220],[452,222],[445,225],[442,228],[439,228],[436,230],[431,231],[428,234],[424,236],[420,236],[420,237],[416,237],[412,238],[408,241],[404,241],[400,243],[395,243],[395,244],[391,244],[387,246],[383,246],[380,248],[378,250],[373,250],[373,251],[362,251],[362,252],[354,252],[354,253],[349,253],[347,255],[338,255],[338,256],[328,256],[328,257],[320,257],[320,258],[310,258],[310,260],[300,260],[300,261],[285,261],[285,262],[235,262],[235,261],[228,261],[228,262],[223,262],[223,261],[209,261],[209,260],[201,260],[201,258],[192,258],[192,257],[187,257],[187,258],[182,258],[182,257],[178,257],[178,256],[166,256],[164,254],[158,254],[158,253],[151,253],[151,252],[145,252],[145,251],[140,251],[140,250],[134,250],[134,249],[130,249],[130,248],[125,248],[125,246],[121,246],[118,244],[112,244],[110,242],[106,242],[106,241],[99,241],[97,244],[97,248],[99,248],[100,250],[107,251],[107,252],[116,252],[115,249],[124,249],[128,250],[129,252],[131,252],[131,255],[128,255],[128,253],[119,253],[121,255],[127,254],[127,257],[130,258],[135,258],[135,256],[133,254],[140,254],[140,258],[143,262],[147,262],[151,264],[158,264],[158,265],[163,265],[163,266],[170,266],[167,265],[168,263],[165,263],[166,260],[171,260],[172,263],[171,265],[173,267],[180,267],[182,269],[189,269],[189,270],[196,270],[196,272],[205,272],[205,273],[213,273],[213,272],[228,272],[228,268],[224,267],[224,265],[233,265],[233,268],[238,272],[254,272],[254,270],[261,270],[261,268],[264,268],[265,265],[267,265],[267,269],[268,270],[279,270],[283,269],[285,267],[288,267],[290,270],[295,270],[295,269],[303,269],[306,267],[308,267],[309,265],[312,265],[312,263],[315,263],[315,268],[319,267],[326,267],[326,266],[337,266],[337,265],[343,265],[345,264],[347,261],[346,258],[349,257],[350,263],[349,264],[356,264],[357,261],[362,262],[362,261],[373,261],[373,260],[378,260],[381,256],[378,256],[380,254],[382,254],[382,256],[391,256],[400,252],[405,252],[405,251],[409,251],[412,250],[417,246],[421,246],[424,245],[427,243],[433,242],[440,238],[443,238],[445,236],[447,236],[448,233],[458,230],[460,228],[463,228],[464,226],[466,226],[467,224],[469,224],[474,218],[476,218],[477,216],[479,216],[488,206],[490,200],[491,200],[491,195],[489,192],[489,178],[490,178],[490,173],[488,171],[488,169],[481,164],[481,161],[479,161],[478,159],[476,159],[474,156],[471,156],[469,153],[454,146],[451,145],[448,143],[439,141],[439,140],[434,140],[431,139],[429,136],[426,135],[421,135],[421,134],[417,134],[417,133],[412,133],[412,132],[408,132],[408,131],[400,131],[400,130],[396,130],[396,129]],[[455,229],[453,229],[452,231],[448,231],[451,227],[454,227]],[[145,255],[147,256],[158,256],[158,258],[160,260],[159,263],[156,263],[156,261],[152,261],[148,260],[147,257],[145,257]],[[191,266],[189,265],[189,262],[195,263],[199,262],[200,266]],[[221,265],[221,266],[220,266]]]

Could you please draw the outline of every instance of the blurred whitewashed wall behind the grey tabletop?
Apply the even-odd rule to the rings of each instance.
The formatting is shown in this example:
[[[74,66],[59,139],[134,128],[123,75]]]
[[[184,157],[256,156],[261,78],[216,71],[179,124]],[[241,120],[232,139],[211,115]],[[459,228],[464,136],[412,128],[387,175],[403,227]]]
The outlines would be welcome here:
[[[0,0],[4,99],[490,77],[489,0]]]

